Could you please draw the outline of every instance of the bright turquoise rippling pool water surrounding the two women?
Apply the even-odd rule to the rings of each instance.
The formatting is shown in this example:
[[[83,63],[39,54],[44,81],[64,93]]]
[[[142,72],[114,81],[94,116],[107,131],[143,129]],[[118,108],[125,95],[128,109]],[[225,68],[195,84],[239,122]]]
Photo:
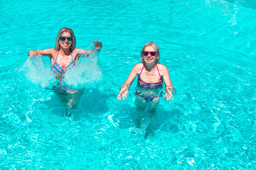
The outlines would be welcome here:
[[[255,1],[6,0],[0,7],[1,169],[256,168]],[[54,47],[63,27],[74,30],[77,47],[103,43],[85,67],[100,81],[87,83],[72,119],[44,88],[49,81],[33,81],[50,77],[48,68],[32,63],[34,78],[23,69],[28,50]],[[134,134],[135,83],[127,101],[117,94],[149,41],[159,45],[177,93],[161,99],[154,135],[144,139]]]

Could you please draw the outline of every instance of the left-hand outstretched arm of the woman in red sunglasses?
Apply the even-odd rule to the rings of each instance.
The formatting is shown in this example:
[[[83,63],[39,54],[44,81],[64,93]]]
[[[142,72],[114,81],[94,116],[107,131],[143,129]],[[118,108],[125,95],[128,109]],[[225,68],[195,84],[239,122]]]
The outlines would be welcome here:
[[[127,98],[127,94],[129,92],[129,86],[137,77],[138,72],[139,72],[139,64],[136,64],[132,68],[132,71],[130,72],[129,77],[127,78],[127,81],[125,81],[124,84],[122,84],[122,86],[120,87],[120,93],[117,95],[117,99],[119,101],[121,101],[121,99],[125,100],[125,98]]]

